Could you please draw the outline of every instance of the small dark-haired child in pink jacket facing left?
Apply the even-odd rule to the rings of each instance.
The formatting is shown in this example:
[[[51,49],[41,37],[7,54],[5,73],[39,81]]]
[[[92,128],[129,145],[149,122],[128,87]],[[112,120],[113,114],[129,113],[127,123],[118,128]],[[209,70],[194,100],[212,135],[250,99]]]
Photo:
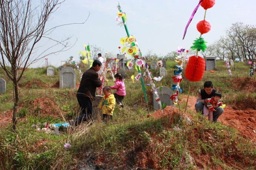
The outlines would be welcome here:
[[[121,74],[119,74],[119,73],[115,74],[115,79],[116,79],[115,85],[110,86],[110,88],[116,89],[116,92],[114,93],[115,100],[116,100],[118,106],[121,106],[123,108],[124,105],[122,103],[122,100],[124,99],[124,96],[126,95],[124,81],[123,81]]]

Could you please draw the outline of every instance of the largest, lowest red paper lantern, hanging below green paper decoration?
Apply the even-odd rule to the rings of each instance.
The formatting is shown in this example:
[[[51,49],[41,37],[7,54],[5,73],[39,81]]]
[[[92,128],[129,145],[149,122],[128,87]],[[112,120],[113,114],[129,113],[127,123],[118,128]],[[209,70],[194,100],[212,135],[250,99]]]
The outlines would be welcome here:
[[[203,78],[205,71],[204,58],[196,55],[188,59],[188,64],[185,70],[185,77],[189,81],[200,81]]]

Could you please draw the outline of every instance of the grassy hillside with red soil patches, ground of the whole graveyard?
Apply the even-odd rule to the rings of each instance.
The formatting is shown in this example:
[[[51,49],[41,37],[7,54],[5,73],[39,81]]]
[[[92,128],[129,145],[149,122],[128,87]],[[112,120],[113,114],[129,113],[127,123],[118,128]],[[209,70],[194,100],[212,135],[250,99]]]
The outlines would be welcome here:
[[[171,87],[175,64],[167,61],[167,77],[156,86]],[[130,79],[136,71],[129,71],[125,108],[115,108],[112,122],[96,119],[90,125],[63,130],[59,136],[31,127],[39,122],[41,127],[44,122],[65,122],[78,115],[77,89],[59,89],[58,69],[55,72],[49,77],[46,68],[25,71],[19,82],[19,120],[13,133],[13,85],[0,69],[0,77],[7,82],[7,93],[0,95],[1,169],[256,169],[256,78],[248,78],[246,63],[235,63],[232,77],[224,62],[218,61],[217,69],[207,71],[201,81],[184,79],[181,113],[189,86],[191,103],[181,117],[172,106],[165,108],[164,115],[154,113],[147,86],[148,116],[140,82]],[[158,76],[159,72],[152,74]],[[109,74],[108,79],[113,85]],[[228,105],[214,124],[193,108],[194,96],[207,80],[221,91],[223,103]],[[63,147],[67,142],[69,149]]]

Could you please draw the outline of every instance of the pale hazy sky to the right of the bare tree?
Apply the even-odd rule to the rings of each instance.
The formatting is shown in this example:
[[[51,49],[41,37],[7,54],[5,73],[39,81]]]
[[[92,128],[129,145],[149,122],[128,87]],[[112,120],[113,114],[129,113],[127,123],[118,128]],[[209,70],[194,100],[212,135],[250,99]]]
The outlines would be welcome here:
[[[37,0],[39,2],[39,0]],[[32,3],[37,3],[32,1]],[[122,11],[127,14],[127,26],[131,35],[139,43],[142,54],[149,51],[158,55],[177,50],[178,47],[190,48],[193,40],[199,37],[196,24],[203,20],[204,9],[198,8],[184,40],[184,28],[198,0],[66,0],[50,17],[47,28],[68,23],[81,23],[90,16],[86,23],[57,28],[50,36],[63,39],[72,36],[70,50],[49,55],[48,63],[56,67],[61,60],[74,56],[79,60],[79,51],[83,44],[93,44],[105,52],[118,54],[120,39],[126,36],[124,26],[117,25],[118,1]],[[256,25],[256,0],[216,0],[214,7],[207,10],[206,20],[211,24],[211,31],[203,38],[212,44],[235,22]],[[77,40],[77,41],[76,41]],[[59,47],[52,50],[59,50]],[[115,55],[116,56],[116,55]],[[115,57],[113,56],[113,57]],[[45,66],[42,59],[32,67]]]

